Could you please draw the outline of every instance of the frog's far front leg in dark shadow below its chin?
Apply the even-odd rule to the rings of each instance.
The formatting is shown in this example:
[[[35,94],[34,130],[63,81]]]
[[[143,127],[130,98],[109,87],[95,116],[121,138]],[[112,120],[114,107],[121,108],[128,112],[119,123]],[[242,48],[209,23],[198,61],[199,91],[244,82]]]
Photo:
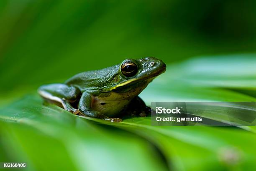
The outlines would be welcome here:
[[[131,114],[131,116],[147,116],[151,114],[151,108],[146,106],[139,96],[136,96],[129,104],[126,113]]]

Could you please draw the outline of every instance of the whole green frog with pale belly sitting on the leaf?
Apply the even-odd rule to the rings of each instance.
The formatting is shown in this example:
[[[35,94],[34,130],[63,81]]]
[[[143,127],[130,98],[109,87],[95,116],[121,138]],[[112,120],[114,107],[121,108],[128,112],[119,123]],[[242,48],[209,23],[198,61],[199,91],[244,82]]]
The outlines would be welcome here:
[[[128,58],[118,65],[78,73],[64,83],[41,85],[38,93],[74,115],[120,122],[116,116],[151,113],[138,95],[165,71],[166,64],[158,58]]]

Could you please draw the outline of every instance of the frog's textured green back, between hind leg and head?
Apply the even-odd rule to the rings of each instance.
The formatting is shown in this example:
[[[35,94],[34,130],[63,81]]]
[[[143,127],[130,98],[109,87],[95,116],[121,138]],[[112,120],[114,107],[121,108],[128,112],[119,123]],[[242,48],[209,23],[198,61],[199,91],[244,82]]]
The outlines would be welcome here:
[[[86,71],[69,78],[65,84],[77,87],[81,92],[87,89],[102,90],[118,73],[118,70],[119,65],[114,65],[101,70]]]

